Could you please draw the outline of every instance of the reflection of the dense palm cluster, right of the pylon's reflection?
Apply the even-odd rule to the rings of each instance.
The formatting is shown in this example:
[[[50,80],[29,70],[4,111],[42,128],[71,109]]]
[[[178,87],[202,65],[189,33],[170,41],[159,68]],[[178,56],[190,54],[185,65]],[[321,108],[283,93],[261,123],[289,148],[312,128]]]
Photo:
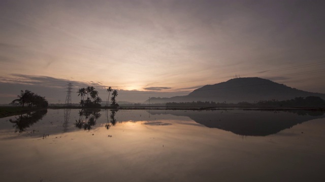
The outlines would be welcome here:
[[[76,120],[75,126],[79,129],[90,130],[96,124],[96,120],[101,117],[100,109],[98,110],[79,110],[79,119]]]

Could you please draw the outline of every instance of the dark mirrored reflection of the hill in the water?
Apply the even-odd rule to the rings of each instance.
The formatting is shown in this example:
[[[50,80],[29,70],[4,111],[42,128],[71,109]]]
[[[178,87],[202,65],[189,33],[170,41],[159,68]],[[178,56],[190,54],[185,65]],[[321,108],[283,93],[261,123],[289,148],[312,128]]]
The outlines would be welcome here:
[[[245,136],[266,136],[291,128],[312,119],[323,118],[324,112],[317,111],[179,111],[151,110],[150,114],[172,114],[187,116],[209,128],[219,128]]]

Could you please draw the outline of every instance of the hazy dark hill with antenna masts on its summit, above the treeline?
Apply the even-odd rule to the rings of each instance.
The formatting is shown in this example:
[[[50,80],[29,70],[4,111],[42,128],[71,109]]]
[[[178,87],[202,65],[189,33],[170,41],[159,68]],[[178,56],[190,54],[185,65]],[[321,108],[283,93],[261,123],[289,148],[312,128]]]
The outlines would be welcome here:
[[[213,102],[255,102],[268,100],[288,100],[295,97],[317,96],[325,99],[325,94],[311,93],[297,88],[291,88],[284,84],[259,78],[246,77],[234,78],[225,82],[205,85],[193,90],[187,96],[172,98],[150,98],[150,103],[167,102],[192,102],[192,101],[213,101]],[[147,103],[148,101],[146,101]]]

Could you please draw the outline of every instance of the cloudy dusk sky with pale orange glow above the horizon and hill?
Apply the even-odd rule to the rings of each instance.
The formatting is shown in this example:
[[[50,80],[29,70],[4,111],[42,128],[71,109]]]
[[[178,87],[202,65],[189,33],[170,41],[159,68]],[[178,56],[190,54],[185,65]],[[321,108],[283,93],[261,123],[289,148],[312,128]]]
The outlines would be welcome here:
[[[0,104],[64,103],[67,82],[118,101],[235,75],[325,93],[324,1],[0,1]]]

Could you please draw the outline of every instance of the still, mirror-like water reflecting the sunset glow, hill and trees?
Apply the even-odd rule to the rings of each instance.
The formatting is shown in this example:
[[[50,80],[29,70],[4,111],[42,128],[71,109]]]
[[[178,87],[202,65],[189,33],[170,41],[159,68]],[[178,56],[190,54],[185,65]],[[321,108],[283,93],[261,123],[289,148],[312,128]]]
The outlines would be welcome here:
[[[0,119],[1,181],[325,181],[325,115],[54,110]]]

